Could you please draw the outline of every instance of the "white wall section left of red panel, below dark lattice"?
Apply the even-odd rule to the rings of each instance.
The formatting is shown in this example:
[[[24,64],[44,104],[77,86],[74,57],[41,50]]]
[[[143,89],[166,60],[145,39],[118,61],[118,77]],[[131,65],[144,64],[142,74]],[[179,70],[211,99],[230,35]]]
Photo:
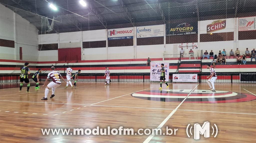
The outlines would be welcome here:
[[[58,50],[39,51],[37,61],[58,61]]]

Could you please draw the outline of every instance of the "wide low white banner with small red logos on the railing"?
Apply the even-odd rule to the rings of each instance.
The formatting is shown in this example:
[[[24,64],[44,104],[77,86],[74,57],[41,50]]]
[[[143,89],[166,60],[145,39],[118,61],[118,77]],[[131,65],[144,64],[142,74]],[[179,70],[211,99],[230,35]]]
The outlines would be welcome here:
[[[197,74],[173,74],[173,82],[198,82]]]

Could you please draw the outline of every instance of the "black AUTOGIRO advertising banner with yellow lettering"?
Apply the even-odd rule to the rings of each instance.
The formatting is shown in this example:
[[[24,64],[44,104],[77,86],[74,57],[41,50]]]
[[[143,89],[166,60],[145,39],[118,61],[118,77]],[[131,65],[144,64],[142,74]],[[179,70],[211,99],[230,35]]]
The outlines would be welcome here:
[[[197,34],[197,22],[166,24],[166,35],[190,35]]]

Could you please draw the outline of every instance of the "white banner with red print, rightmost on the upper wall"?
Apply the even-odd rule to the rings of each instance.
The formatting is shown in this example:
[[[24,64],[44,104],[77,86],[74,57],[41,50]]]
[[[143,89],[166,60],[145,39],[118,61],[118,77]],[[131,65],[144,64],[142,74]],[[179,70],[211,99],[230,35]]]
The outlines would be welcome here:
[[[238,18],[238,31],[256,30],[256,16]]]

